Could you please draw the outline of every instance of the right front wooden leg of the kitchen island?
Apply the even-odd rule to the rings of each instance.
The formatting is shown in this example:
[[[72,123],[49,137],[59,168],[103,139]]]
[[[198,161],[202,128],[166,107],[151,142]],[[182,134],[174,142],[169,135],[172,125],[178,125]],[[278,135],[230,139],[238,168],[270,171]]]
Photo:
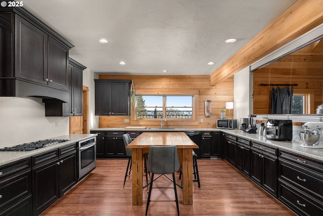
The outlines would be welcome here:
[[[192,149],[182,149],[183,204],[193,204],[193,154]]]

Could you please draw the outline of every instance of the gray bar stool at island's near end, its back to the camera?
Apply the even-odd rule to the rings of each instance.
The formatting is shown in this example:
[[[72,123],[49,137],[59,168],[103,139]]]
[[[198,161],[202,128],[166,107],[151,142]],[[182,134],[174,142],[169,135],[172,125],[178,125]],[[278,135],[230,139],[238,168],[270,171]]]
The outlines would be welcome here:
[[[172,174],[173,180],[171,180],[174,184],[174,192],[175,192],[175,200],[156,200],[156,201],[175,201],[177,208],[177,215],[180,215],[179,207],[178,207],[178,198],[177,198],[177,190],[176,190],[176,180],[175,180],[175,172],[180,168],[180,163],[177,155],[177,147],[176,146],[150,146],[147,160],[147,170],[151,173],[150,178],[150,186],[147,198],[147,207],[146,214],[148,212],[148,207],[150,203],[150,195],[151,190],[153,189],[152,183],[160,176],[166,176],[166,174]],[[159,174],[157,178],[154,179],[154,174]],[[167,176],[166,176],[167,177]],[[167,177],[170,179],[169,177]],[[158,188],[158,187],[155,187]]]

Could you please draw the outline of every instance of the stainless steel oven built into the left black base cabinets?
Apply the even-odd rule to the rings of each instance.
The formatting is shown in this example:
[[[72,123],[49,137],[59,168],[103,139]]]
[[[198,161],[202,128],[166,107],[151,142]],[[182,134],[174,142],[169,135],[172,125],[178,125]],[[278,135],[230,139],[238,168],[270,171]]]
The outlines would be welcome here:
[[[81,179],[96,166],[96,137],[79,142],[78,159],[78,178]]]

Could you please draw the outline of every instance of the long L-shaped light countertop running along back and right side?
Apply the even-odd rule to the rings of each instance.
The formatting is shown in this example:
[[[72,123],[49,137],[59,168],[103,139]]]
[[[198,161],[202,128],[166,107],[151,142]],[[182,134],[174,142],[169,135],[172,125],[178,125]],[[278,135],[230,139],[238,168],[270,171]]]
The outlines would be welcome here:
[[[146,128],[146,129],[127,129],[125,127],[100,127],[93,128],[91,131],[142,131],[142,132],[155,132],[155,131],[169,131],[169,132],[186,132],[186,131],[222,131],[228,134],[236,135],[239,137],[243,137],[246,139],[250,139],[255,142],[263,143],[266,145],[270,145],[273,147],[277,147],[282,150],[288,150],[290,152],[307,156],[313,159],[317,159],[323,161],[323,146],[321,149],[317,148],[304,148],[301,147],[303,144],[300,140],[292,140],[290,142],[285,141],[274,141],[268,140],[264,136],[259,136],[259,134],[248,134],[245,132],[241,132],[240,129],[222,129],[222,128],[175,128],[175,129],[156,129],[156,128]]]

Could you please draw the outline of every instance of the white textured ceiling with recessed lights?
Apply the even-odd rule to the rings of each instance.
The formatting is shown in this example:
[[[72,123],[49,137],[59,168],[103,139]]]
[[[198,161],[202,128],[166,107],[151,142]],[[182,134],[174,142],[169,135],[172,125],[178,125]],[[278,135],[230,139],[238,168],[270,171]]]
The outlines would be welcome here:
[[[24,0],[92,72],[211,74],[296,0]],[[109,40],[100,44],[100,38]],[[226,44],[236,38],[234,44]],[[119,65],[124,61],[126,65]],[[207,62],[214,65],[207,65]],[[167,70],[164,73],[163,70]]]

